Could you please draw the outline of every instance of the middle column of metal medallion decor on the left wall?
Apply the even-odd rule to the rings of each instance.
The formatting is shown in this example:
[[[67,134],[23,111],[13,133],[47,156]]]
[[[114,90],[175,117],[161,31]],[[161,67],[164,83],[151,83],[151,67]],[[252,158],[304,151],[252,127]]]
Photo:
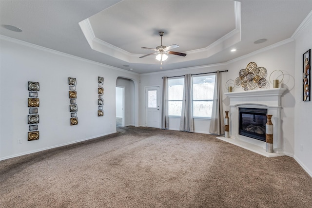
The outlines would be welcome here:
[[[70,125],[72,126],[78,124],[77,117],[78,106],[76,104],[77,98],[76,78],[68,77],[68,84],[69,84],[69,99],[70,99],[69,112],[71,114]]]

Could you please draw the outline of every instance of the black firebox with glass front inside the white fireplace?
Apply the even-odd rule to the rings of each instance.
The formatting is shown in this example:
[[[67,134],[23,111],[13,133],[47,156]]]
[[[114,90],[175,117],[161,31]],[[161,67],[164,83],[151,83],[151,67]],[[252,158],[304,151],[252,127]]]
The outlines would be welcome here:
[[[238,133],[254,139],[265,141],[265,124],[267,123],[267,109],[238,108]]]

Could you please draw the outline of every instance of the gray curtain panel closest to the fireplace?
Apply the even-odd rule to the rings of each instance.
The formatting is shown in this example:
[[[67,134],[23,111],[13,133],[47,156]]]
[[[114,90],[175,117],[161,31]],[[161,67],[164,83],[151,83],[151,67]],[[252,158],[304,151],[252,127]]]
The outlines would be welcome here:
[[[221,92],[221,77],[220,72],[217,71],[215,74],[215,92],[214,92],[214,103],[210,121],[210,133],[213,134],[224,134],[224,118],[223,118],[223,107],[222,107],[222,92]]]

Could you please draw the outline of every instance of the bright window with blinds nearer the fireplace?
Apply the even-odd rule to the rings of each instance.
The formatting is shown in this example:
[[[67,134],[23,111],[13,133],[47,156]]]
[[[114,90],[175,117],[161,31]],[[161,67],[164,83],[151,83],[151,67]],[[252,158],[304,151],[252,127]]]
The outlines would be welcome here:
[[[193,76],[193,117],[211,118],[215,91],[215,75]]]

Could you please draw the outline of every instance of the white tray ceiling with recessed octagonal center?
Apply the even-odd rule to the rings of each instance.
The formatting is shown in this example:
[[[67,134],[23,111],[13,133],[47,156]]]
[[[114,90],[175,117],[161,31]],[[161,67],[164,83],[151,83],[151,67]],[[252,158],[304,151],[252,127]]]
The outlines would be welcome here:
[[[3,36],[149,73],[160,63],[139,58],[153,52],[140,47],[160,45],[159,31],[163,45],[187,54],[169,55],[162,70],[223,63],[291,38],[312,0],[0,0],[0,9]]]

